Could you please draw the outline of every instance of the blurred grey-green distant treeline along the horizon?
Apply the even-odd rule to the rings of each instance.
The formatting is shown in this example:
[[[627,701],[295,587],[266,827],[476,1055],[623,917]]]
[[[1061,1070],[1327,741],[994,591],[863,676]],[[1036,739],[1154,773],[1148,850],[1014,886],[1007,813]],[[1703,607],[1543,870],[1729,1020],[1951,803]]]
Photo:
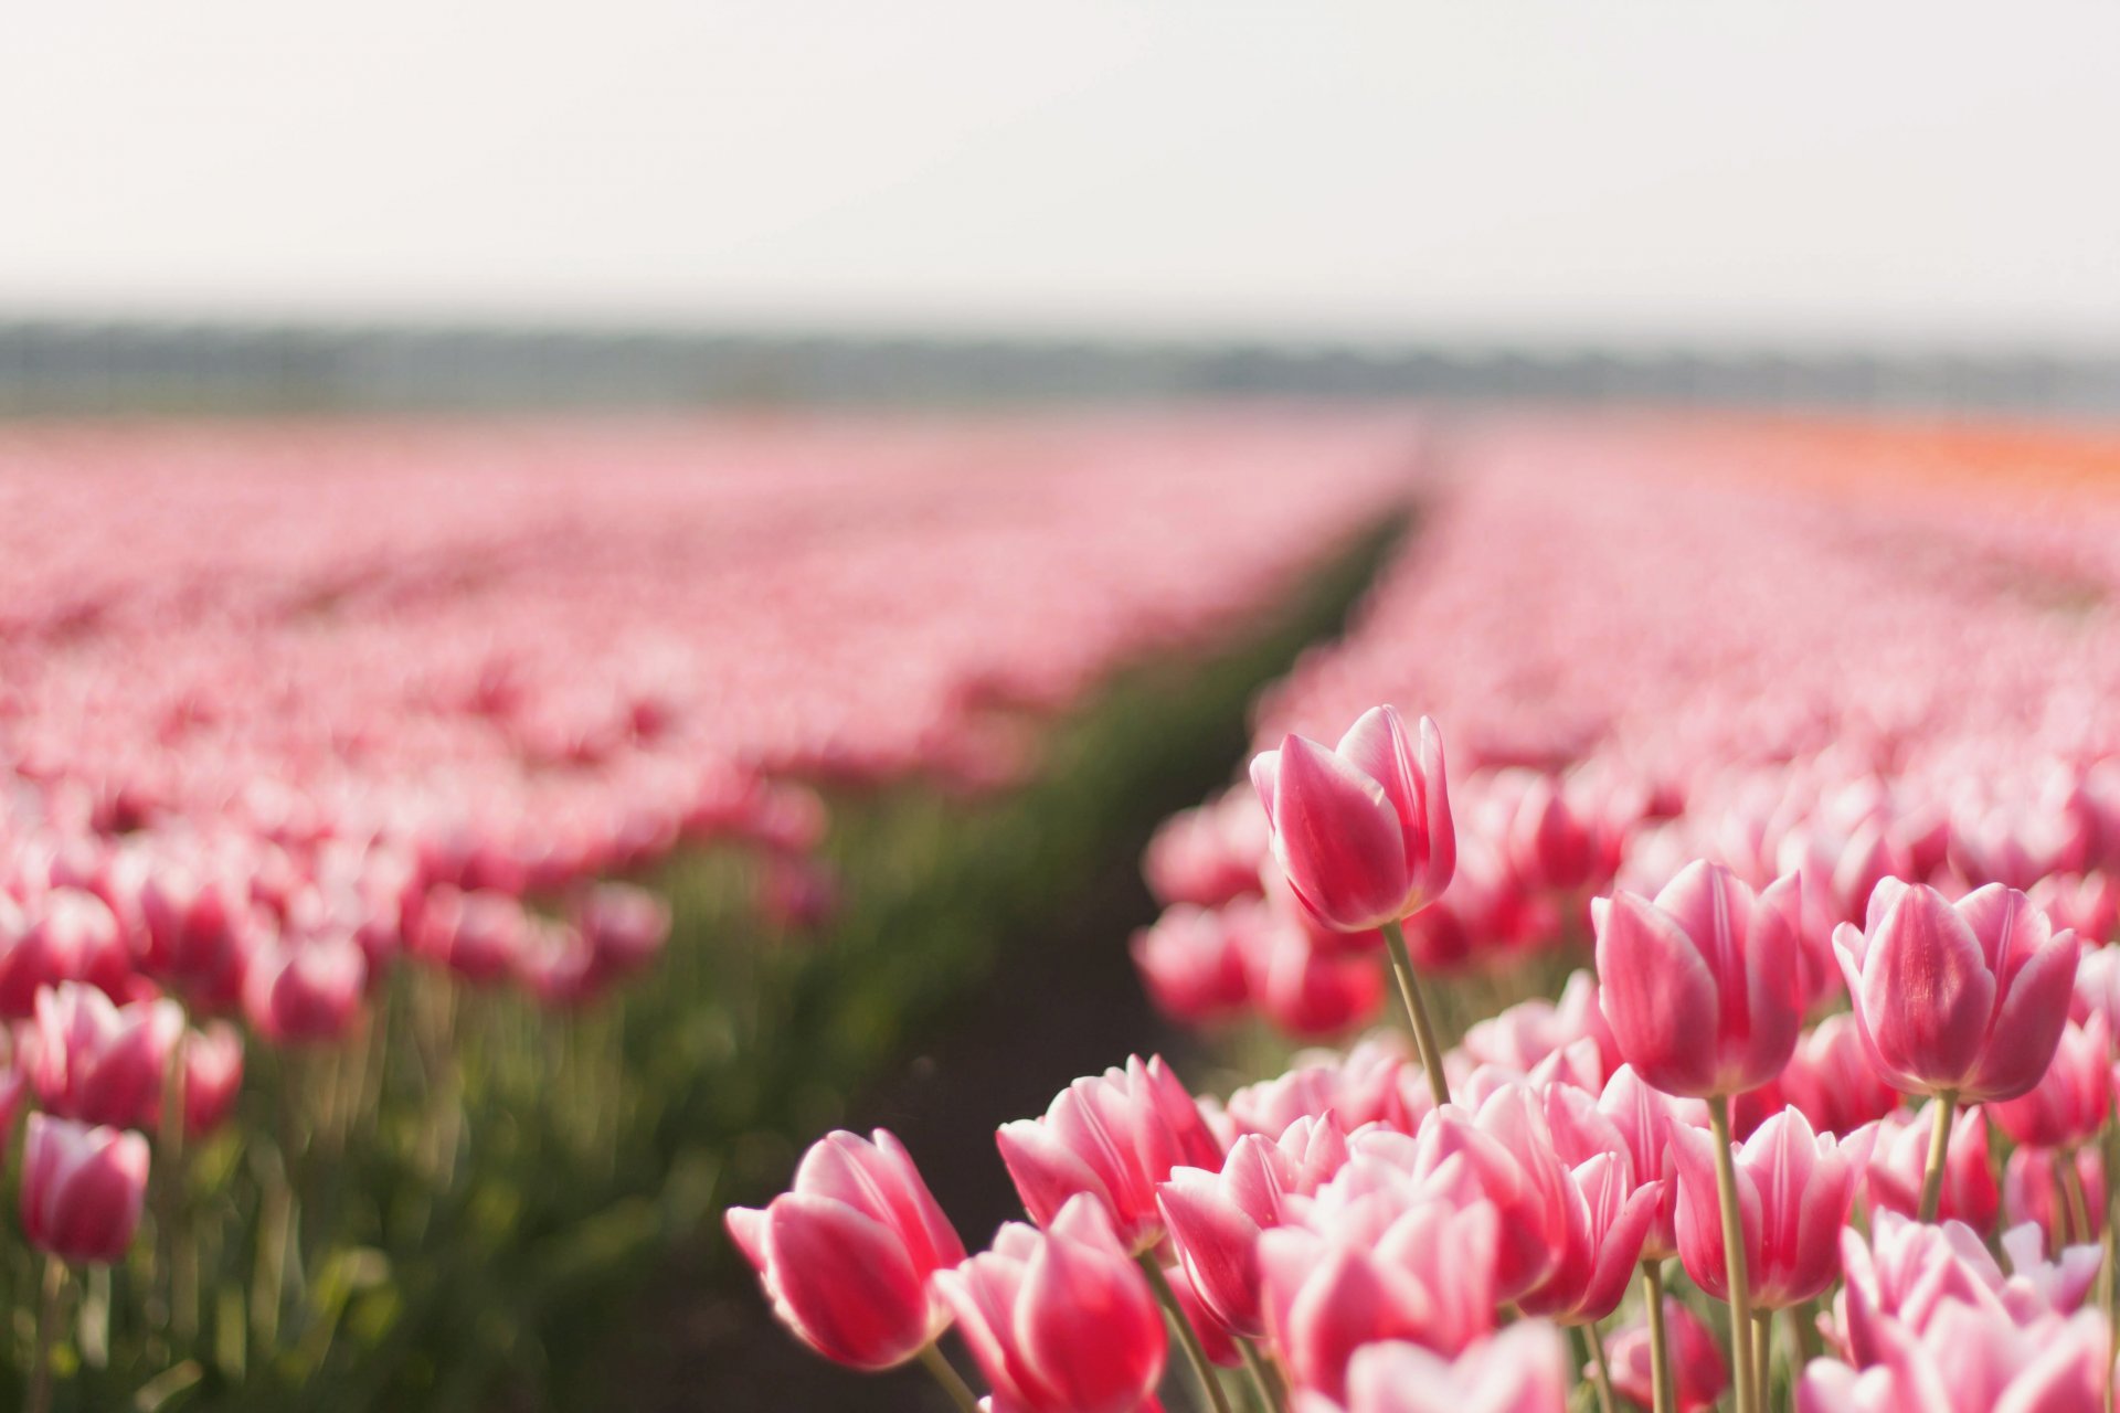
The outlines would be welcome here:
[[[0,322],[0,415],[1520,398],[2120,413],[2120,356]]]

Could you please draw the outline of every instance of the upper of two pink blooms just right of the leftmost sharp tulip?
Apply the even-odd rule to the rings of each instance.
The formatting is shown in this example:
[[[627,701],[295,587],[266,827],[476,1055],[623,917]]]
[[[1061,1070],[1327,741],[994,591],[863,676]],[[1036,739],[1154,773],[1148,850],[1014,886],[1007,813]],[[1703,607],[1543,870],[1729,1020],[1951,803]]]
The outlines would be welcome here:
[[[1079,1078],[1043,1119],[994,1135],[1030,1220],[1045,1227],[1077,1193],[1092,1195],[1136,1252],[1164,1237],[1155,1188],[1172,1167],[1221,1167],[1221,1146],[1162,1057]]]

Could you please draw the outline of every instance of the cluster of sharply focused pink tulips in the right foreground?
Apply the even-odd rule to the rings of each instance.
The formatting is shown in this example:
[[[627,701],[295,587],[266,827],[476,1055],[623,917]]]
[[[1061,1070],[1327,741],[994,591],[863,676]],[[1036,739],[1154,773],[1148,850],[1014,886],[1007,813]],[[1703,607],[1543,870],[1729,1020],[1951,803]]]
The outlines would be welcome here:
[[[1172,1343],[1213,1409],[1558,1413],[1577,1371],[1605,1409],[2112,1405],[2120,951],[2006,883],[1891,875],[1817,938],[1804,871],[1694,860],[1592,900],[1596,970],[1558,1004],[1444,1051],[1408,947],[1456,866],[1435,727],[1378,708],[1253,782],[1295,907],[1389,962],[1412,1051],[1367,1040],[1225,1104],[1160,1059],[1075,1080],[1001,1127],[1030,1222],[971,1256],[888,1133],[833,1133],[727,1214],[812,1347],[922,1358],[971,1409],[954,1322],[994,1413],[1160,1407]]]

